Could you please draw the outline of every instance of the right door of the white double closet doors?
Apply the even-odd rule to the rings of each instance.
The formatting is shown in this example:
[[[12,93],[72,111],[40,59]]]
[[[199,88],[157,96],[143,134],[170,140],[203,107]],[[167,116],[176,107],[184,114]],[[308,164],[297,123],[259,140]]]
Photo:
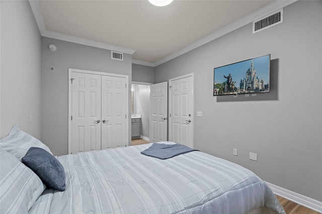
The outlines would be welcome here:
[[[127,145],[126,79],[102,76],[102,149]]]

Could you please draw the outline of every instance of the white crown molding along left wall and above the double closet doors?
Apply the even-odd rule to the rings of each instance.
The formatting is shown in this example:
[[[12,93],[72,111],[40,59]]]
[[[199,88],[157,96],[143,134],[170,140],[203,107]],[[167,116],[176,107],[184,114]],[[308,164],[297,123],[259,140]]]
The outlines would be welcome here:
[[[135,50],[131,49],[131,48],[125,48],[125,47],[121,47],[121,46],[110,45],[110,44],[107,44],[107,43],[97,42],[97,41],[94,41],[94,40],[89,40],[89,39],[85,39],[85,38],[81,38],[81,37],[76,37],[76,36],[71,36],[71,35],[67,35],[67,34],[56,33],[56,32],[53,32],[53,31],[47,31],[44,18],[43,18],[42,14],[41,14],[41,11],[40,11],[40,6],[39,6],[38,0],[29,0],[29,4],[30,4],[31,10],[32,10],[32,12],[34,14],[34,17],[36,19],[36,23],[38,25],[38,29],[40,31],[40,34],[43,37],[49,37],[49,38],[52,38],[52,39],[58,39],[58,40],[66,41],[66,42],[73,42],[73,43],[77,43],[77,44],[88,45],[88,46],[91,46],[91,47],[118,51],[118,52],[131,54],[131,55],[135,52]]]

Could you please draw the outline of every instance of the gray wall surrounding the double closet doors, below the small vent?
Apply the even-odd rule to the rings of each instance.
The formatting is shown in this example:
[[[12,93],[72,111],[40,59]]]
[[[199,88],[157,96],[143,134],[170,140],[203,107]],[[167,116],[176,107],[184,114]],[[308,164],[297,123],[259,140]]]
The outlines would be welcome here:
[[[54,44],[57,50],[48,50]],[[54,155],[68,153],[68,68],[100,71],[128,75],[132,79],[132,56],[124,54],[124,60],[112,60],[109,50],[42,37],[41,61],[41,140]],[[50,66],[55,72],[50,72]],[[129,113],[131,115],[131,88],[129,91]],[[131,139],[131,119],[128,117]]]

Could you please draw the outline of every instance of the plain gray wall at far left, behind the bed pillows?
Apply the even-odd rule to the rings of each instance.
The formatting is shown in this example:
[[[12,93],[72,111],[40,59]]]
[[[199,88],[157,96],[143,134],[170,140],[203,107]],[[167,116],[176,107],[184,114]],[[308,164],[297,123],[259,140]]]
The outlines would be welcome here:
[[[0,137],[7,136],[17,124],[40,139],[41,36],[28,1],[0,1],[0,4]]]

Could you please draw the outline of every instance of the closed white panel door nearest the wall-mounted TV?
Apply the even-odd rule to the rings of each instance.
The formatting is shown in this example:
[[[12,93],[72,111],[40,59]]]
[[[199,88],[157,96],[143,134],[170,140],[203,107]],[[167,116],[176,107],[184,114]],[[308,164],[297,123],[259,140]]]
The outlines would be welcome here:
[[[193,148],[193,74],[170,79],[170,141]]]

